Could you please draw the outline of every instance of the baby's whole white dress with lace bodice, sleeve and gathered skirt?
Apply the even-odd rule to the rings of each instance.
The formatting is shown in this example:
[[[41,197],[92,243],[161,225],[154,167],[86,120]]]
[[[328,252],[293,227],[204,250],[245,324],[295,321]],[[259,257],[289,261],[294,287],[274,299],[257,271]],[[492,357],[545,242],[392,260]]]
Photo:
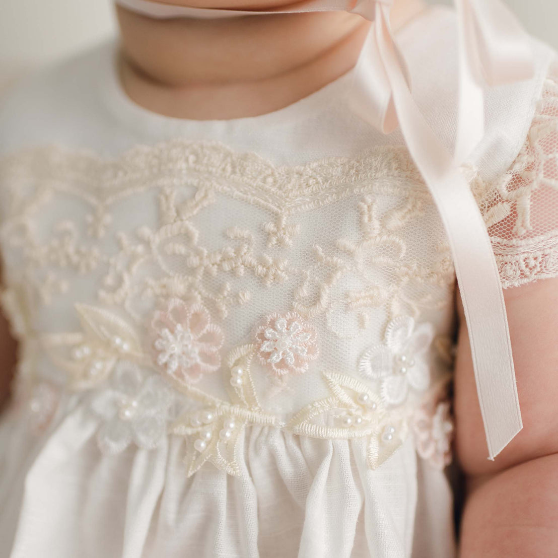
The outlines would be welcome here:
[[[400,31],[415,98],[456,129],[455,17]],[[558,275],[558,89],[487,92],[461,171],[504,287]],[[455,555],[455,274],[400,133],[351,73],[232,121],[134,105],[103,45],[0,111],[0,555]],[[555,206],[555,205],[554,205]]]

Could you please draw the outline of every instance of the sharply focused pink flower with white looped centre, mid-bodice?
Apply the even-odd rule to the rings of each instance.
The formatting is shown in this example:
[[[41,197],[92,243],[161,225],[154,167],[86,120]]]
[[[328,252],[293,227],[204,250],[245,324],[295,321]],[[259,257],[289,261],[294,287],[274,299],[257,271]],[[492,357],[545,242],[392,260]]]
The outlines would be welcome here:
[[[258,356],[277,376],[304,374],[318,357],[316,330],[296,312],[271,314],[256,331]]]

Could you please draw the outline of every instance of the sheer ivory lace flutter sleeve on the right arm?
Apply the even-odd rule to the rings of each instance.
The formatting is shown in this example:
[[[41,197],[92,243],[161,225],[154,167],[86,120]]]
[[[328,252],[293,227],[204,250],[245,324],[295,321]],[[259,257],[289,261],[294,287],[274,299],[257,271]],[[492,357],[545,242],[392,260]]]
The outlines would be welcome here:
[[[558,64],[513,165],[496,182],[477,182],[474,194],[504,288],[558,276]]]

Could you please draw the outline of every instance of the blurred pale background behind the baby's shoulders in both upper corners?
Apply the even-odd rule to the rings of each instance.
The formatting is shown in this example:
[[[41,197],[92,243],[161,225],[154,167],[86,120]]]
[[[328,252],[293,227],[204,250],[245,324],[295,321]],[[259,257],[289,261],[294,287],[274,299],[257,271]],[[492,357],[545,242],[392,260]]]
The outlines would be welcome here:
[[[558,48],[556,0],[507,2],[533,35]],[[111,0],[0,0],[0,91],[33,68],[114,32]]]

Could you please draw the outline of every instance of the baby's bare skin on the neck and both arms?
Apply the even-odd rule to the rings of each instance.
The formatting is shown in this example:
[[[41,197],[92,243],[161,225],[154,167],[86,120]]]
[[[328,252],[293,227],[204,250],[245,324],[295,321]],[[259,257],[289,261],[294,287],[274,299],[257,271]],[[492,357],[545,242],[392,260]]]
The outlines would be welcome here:
[[[281,0],[166,0],[196,7],[266,9]],[[425,9],[396,0],[394,28]],[[355,64],[369,23],[345,12],[232,20],[157,21],[118,8],[124,89],[177,118],[229,119],[285,107]],[[460,558],[558,556],[558,280],[504,292],[524,427],[487,460],[463,309],[455,367],[456,452],[467,480]],[[0,396],[15,359],[0,319]],[[0,399],[1,400],[1,399]]]

